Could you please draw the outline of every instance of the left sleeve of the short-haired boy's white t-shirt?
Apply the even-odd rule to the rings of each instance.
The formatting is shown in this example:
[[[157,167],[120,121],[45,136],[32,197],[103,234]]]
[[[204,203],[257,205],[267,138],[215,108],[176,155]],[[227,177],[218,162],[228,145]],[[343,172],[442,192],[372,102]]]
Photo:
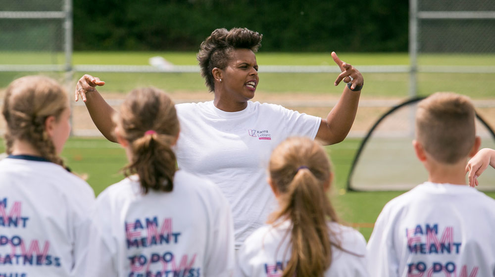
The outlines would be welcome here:
[[[370,277],[398,276],[398,258],[394,247],[390,207],[386,205],[378,216],[366,247]]]

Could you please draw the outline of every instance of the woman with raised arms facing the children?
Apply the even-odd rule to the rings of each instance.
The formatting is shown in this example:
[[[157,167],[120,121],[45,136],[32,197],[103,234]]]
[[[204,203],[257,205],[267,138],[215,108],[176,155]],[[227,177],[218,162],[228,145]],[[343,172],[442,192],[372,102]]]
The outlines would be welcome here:
[[[354,121],[363,85],[361,73],[332,58],[342,70],[334,85],[348,81],[326,118],[280,105],[252,102],[259,82],[255,52],[262,35],[246,28],[216,29],[201,43],[197,58],[212,101],[176,105],[181,134],[175,148],[180,168],[219,185],[234,217],[236,249],[276,207],[266,182],[272,150],[291,136],[334,144],[344,140]],[[99,78],[84,75],[75,88],[99,131],[116,142],[115,111],[96,90]],[[185,203],[187,208],[187,203]]]

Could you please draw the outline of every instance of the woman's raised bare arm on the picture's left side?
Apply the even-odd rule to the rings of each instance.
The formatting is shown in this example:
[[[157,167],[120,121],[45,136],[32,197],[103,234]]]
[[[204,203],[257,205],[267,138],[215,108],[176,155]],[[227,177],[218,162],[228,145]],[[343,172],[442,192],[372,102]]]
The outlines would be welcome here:
[[[99,80],[98,77],[85,74],[77,82],[74,96],[76,101],[81,96],[99,132],[106,139],[117,142],[117,138],[113,132],[115,124],[112,121],[112,116],[116,111],[103,99],[96,89],[97,86],[103,86],[104,84],[105,82]]]

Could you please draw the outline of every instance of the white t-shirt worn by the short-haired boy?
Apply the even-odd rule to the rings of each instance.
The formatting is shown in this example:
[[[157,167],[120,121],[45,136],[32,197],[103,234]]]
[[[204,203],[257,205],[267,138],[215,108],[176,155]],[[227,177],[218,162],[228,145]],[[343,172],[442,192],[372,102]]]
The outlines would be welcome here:
[[[495,276],[495,200],[467,185],[426,182],[392,199],[368,241],[376,277]]]

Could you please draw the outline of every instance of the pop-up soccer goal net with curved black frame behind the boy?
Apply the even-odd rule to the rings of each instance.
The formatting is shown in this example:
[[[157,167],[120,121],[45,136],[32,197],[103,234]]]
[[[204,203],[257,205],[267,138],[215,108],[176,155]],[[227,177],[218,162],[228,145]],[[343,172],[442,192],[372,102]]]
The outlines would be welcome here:
[[[409,99],[383,114],[356,152],[347,178],[349,190],[408,190],[428,180],[428,173],[412,147],[414,117],[423,97]],[[495,134],[477,114],[476,133],[481,148],[495,148]],[[478,178],[480,190],[495,191],[495,170]]]

